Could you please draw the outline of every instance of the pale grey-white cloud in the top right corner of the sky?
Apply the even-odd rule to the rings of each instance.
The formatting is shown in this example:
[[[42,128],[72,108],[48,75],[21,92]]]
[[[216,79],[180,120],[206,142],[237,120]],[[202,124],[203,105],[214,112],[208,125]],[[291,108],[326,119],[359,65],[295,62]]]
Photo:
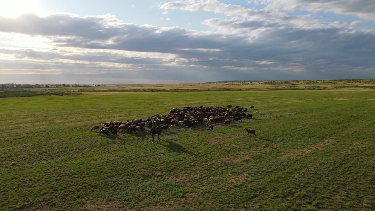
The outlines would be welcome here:
[[[375,3],[372,0],[262,0],[261,3],[285,11],[324,11],[375,20]]]

